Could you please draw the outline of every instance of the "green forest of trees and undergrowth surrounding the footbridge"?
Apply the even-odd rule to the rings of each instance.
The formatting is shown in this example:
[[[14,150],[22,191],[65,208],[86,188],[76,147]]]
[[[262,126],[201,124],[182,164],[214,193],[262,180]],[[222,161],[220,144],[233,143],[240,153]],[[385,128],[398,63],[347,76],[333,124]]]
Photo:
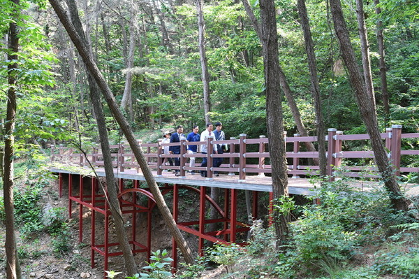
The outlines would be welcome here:
[[[29,231],[46,231],[56,243],[65,242],[60,231],[69,231],[68,220],[59,210],[54,211],[58,224],[49,227],[26,224],[22,217],[25,199],[41,199],[38,187],[51,179],[46,164],[51,145],[87,150],[92,143],[129,142],[134,136],[156,142],[163,130],[182,124],[185,133],[195,125],[203,131],[210,121],[222,122],[228,138],[272,139],[272,150],[279,152],[271,151],[270,159],[277,220],[274,229],[251,228],[255,236],[246,252],[215,246],[200,264],[184,255],[193,264],[177,278],[200,278],[203,262],[225,266],[225,278],[419,278],[418,200],[399,197],[396,182],[418,184],[419,178],[388,173],[380,139],[371,145],[388,192],[360,194],[341,181],[322,184],[320,205],[301,207],[281,198],[287,196],[282,131],[321,138],[335,128],[376,138],[395,124],[403,133],[419,132],[418,1],[0,4],[0,219],[6,228],[0,278],[3,273],[27,278],[17,243]],[[402,144],[419,146],[417,138]],[[324,142],[314,148],[325,153]],[[318,162],[324,176],[325,157]],[[419,158],[404,163],[418,167]],[[17,236],[14,226],[21,227]],[[272,242],[281,247],[272,248]],[[158,264],[136,278],[170,278],[164,262],[169,258],[160,253],[153,259]],[[236,262],[242,267],[233,266]],[[354,268],[357,264],[361,267]],[[138,273],[135,264],[127,266],[126,275]]]

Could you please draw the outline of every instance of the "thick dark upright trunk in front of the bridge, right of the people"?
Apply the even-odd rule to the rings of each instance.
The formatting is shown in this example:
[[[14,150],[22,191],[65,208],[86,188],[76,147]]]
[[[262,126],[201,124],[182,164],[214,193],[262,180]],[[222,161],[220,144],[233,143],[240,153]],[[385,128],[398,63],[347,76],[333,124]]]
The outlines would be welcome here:
[[[277,18],[274,0],[260,0],[260,34],[262,35],[263,67],[265,69],[267,135],[269,137],[272,166],[272,192],[274,203],[288,196],[288,169],[284,139],[284,120],[279,84],[279,56]],[[277,233],[277,249],[283,250],[289,236],[289,216],[274,210],[274,227]]]

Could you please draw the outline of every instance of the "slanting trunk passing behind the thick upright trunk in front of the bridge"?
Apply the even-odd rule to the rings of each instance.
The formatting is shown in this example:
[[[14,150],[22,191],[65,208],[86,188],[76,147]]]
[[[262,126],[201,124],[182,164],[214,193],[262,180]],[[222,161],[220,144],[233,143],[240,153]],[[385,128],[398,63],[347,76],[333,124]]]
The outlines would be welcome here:
[[[258,20],[256,19],[256,16],[253,13],[253,10],[251,9],[251,6],[249,4],[249,0],[243,0],[243,6],[246,10],[247,15],[249,16],[249,19],[251,21],[251,24],[253,25],[253,28],[256,31],[256,34],[258,35],[258,38],[260,42],[262,42],[262,34],[260,31],[260,24]],[[304,126],[304,123],[302,122],[301,113],[298,109],[297,102],[295,102],[294,94],[291,91],[290,85],[288,85],[288,81],[286,80],[286,76],[284,71],[281,69],[281,65],[279,66],[279,82],[282,87],[282,90],[284,90],[284,94],[286,96],[286,100],[288,101],[288,106],[291,110],[291,114],[293,115],[293,119],[295,121],[295,125],[297,126],[298,132],[301,136],[309,136],[306,127]],[[306,142],[304,145],[307,148],[307,151],[315,152],[316,148],[314,148],[313,143]],[[319,164],[318,159],[314,159],[314,162],[316,164]]]

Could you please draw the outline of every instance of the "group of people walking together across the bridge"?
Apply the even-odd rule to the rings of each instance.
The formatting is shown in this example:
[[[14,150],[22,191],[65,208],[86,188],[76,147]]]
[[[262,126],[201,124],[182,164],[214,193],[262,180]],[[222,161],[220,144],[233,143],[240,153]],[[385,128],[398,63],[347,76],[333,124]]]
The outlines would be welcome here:
[[[215,125],[215,130],[214,130],[214,125]],[[215,124],[207,123],[206,126],[207,126],[207,129],[205,129],[201,134],[198,133],[199,127],[194,126],[191,133],[189,133],[188,136],[185,137],[185,135],[183,134],[184,127],[182,125],[179,125],[176,127],[175,133],[171,134],[170,132],[166,132],[164,134],[162,143],[179,143],[182,139],[185,139],[186,142],[188,143],[193,143],[193,142],[198,142],[198,141],[207,141],[209,137],[214,138],[214,141],[223,141],[226,139],[226,135],[222,131],[223,124],[221,124],[221,122],[216,122]],[[199,147],[200,147],[200,150],[198,151]],[[165,146],[163,148],[163,153],[164,154],[180,154],[180,148],[181,148],[180,145]],[[212,150],[213,153],[222,154],[224,150],[227,150],[227,145],[215,143],[213,145],[213,148],[214,148]],[[208,147],[206,144],[203,144],[200,146],[197,144],[187,145],[186,152],[188,154],[196,154],[198,152],[207,154]],[[195,166],[195,159],[196,159],[195,157],[191,157],[189,161],[190,167]],[[166,164],[167,161],[169,162],[170,166],[173,166],[172,158],[165,158],[165,160],[163,161],[163,164]],[[214,158],[213,166],[219,167],[221,166],[222,162],[223,162],[223,158]],[[175,166],[180,166],[179,158],[175,158]],[[203,162],[201,163],[201,166],[207,166],[207,157],[203,157]],[[188,173],[195,174],[195,171],[190,170],[188,171]],[[200,175],[203,177],[206,177],[207,171],[200,171]],[[175,176],[179,176],[179,170],[175,171]],[[217,171],[215,172],[215,176],[219,176],[219,173]]]

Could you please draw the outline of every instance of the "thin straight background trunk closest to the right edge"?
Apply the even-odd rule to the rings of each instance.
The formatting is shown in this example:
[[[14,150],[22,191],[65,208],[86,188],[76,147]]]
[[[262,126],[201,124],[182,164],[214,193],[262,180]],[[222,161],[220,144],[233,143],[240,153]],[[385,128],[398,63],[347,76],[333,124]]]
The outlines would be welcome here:
[[[378,7],[379,0],[374,0],[376,5],[376,14],[381,13],[381,8]],[[385,67],[385,48],[384,48],[384,35],[383,35],[383,21],[377,21],[377,43],[378,43],[378,55],[380,55],[379,66],[380,66],[380,78],[381,78],[381,99],[383,100],[384,108],[384,127],[387,127],[390,121],[390,101],[387,87],[387,71]]]

